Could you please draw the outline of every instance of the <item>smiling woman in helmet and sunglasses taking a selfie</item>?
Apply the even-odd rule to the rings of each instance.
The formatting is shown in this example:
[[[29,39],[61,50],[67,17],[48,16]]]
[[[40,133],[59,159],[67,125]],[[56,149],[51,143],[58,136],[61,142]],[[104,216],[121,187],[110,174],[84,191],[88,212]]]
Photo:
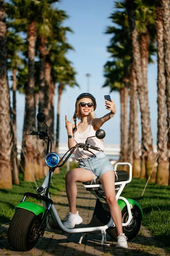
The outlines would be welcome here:
[[[96,109],[96,99],[90,93],[82,93],[77,97],[76,109],[71,122],[65,116],[65,127],[68,132],[68,148],[73,147],[77,143],[85,143],[87,137],[95,136],[96,131],[115,113],[116,108],[113,100],[105,100],[106,109],[110,112],[100,118],[95,118],[94,111]],[[76,118],[81,122],[76,123]],[[82,148],[76,148],[74,151],[76,160],[79,161],[79,168],[70,170],[65,176],[66,193],[70,212],[63,223],[67,228],[73,228],[76,224],[82,222],[76,209],[77,186],[76,182],[87,182],[98,177],[105,191],[105,197],[110,208],[111,217],[116,225],[119,236],[117,237],[117,248],[127,248],[127,238],[122,230],[122,213],[116,201],[115,194],[115,173],[108,157],[103,153],[103,140],[96,137],[88,139],[90,145],[100,148],[102,151],[93,153],[96,157],[91,156],[88,151],[83,151]]]

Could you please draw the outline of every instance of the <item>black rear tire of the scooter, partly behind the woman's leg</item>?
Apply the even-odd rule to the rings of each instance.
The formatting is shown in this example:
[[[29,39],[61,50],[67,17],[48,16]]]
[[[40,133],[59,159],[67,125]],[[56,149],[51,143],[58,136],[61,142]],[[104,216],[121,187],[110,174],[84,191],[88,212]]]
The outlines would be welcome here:
[[[130,241],[135,236],[137,236],[140,227],[141,227],[141,221],[142,221],[142,214],[140,209],[137,206],[134,206],[133,209],[131,209],[133,219],[129,226],[123,227],[123,233],[125,233],[125,236],[127,237],[127,241]],[[125,206],[122,209],[122,223],[127,222],[128,219],[128,212],[127,207]],[[117,241],[117,230],[116,227],[108,228],[107,230],[108,235],[113,239]]]

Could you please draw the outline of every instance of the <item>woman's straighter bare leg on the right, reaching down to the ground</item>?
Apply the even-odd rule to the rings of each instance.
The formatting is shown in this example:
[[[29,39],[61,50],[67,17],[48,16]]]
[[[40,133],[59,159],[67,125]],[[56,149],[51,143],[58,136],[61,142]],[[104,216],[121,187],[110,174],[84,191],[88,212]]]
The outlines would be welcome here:
[[[111,217],[114,221],[114,224],[117,229],[118,235],[123,233],[122,230],[122,213],[119,207],[119,204],[116,201],[116,193],[115,193],[115,174],[113,171],[105,172],[100,178],[104,191],[108,206],[110,208]]]

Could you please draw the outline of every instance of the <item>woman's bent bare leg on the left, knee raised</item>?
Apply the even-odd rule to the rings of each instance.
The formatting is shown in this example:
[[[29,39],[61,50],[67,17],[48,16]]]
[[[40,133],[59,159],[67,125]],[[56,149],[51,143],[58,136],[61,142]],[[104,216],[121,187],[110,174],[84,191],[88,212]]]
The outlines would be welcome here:
[[[65,176],[65,188],[71,214],[76,214],[77,186],[76,181],[86,182],[93,180],[93,173],[83,168],[70,170]]]

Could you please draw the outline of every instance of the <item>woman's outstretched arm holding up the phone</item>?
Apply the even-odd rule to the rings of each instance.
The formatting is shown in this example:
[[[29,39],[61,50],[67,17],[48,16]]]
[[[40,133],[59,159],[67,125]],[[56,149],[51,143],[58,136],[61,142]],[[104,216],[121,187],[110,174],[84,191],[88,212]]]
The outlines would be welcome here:
[[[111,102],[108,100],[105,100],[105,106],[111,112],[106,114],[105,116],[102,116],[100,118],[95,118],[93,120],[92,125],[95,130],[99,129],[106,121],[111,119],[116,114],[116,107],[112,99],[111,99]]]

